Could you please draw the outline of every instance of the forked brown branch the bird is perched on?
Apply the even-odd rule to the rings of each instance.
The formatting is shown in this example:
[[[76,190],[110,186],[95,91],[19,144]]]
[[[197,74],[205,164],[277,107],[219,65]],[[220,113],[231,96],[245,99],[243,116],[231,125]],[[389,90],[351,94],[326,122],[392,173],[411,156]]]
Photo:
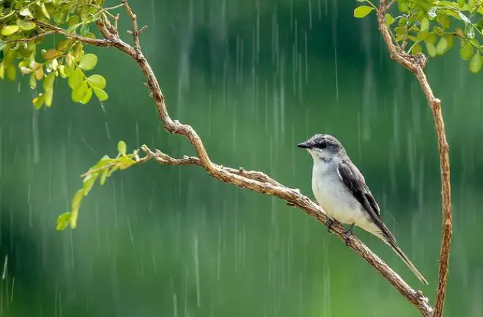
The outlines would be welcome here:
[[[165,130],[173,134],[181,134],[186,137],[193,148],[195,149],[197,157],[183,157],[181,159],[175,159],[162,153],[160,150],[152,151],[147,146],[142,146],[142,150],[146,153],[146,157],[143,157],[138,162],[147,162],[151,159],[156,160],[159,164],[169,165],[198,165],[205,169],[210,176],[222,180],[225,183],[235,185],[240,188],[247,188],[262,194],[276,196],[285,201],[289,201],[293,206],[304,210],[308,215],[318,220],[322,224],[327,222],[327,215],[318,206],[317,203],[311,201],[308,197],[304,196],[297,189],[285,187],[276,182],[265,173],[259,171],[246,171],[242,168],[232,169],[229,167],[223,167],[221,165],[211,162],[207,150],[202,143],[202,140],[198,136],[193,127],[190,125],[182,124],[177,120],[172,120],[168,114],[168,110],[165,105],[165,98],[161,91],[161,87],[158,84],[158,79],[154,75],[151,66],[149,65],[146,57],[142,53],[140,48],[139,36],[143,29],[138,29],[138,23],[136,16],[133,14],[131,7],[126,0],[122,0],[126,12],[133,22],[133,30],[130,32],[133,34],[134,47],[127,44],[121,38],[119,38],[119,32],[117,31],[117,18],[114,18],[114,26],[107,19],[106,15],[102,15],[102,19],[98,22],[98,29],[101,31],[104,39],[91,39],[79,36],[75,33],[68,33],[64,29],[57,26],[52,26],[44,22],[35,21],[39,26],[43,26],[45,29],[50,29],[55,33],[63,34],[68,38],[73,38],[86,44],[102,46],[102,47],[116,47],[122,52],[128,54],[133,58],[140,66],[144,76],[147,79],[146,86],[151,91],[150,95],[156,104],[156,110],[158,111],[158,117],[163,123]],[[345,239],[345,231],[343,226],[339,222],[334,222],[331,226],[331,232],[334,233],[340,240]],[[382,277],[389,281],[394,288],[396,288],[403,297],[413,304],[421,314],[425,317],[431,317],[433,315],[433,309],[428,304],[427,297],[424,297],[421,291],[415,291],[411,288],[406,281],[401,279],[389,265],[382,261],[376,254],[374,254],[364,243],[362,243],[355,235],[350,235],[348,239],[348,247],[355,251],[356,254],[364,258],[376,271],[379,272]]]

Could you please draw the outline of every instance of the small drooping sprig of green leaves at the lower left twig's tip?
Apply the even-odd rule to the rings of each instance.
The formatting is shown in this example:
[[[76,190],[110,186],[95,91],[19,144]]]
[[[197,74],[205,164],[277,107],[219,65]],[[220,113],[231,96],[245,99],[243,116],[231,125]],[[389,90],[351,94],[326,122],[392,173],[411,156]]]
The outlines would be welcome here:
[[[117,151],[117,157],[110,158],[109,156],[104,155],[104,157],[101,158],[97,164],[91,167],[87,173],[82,175],[84,177],[84,185],[75,193],[74,198],[72,199],[70,212],[64,212],[62,215],[57,217],[58,231],[62,231],[68,226],[70,226],[72,229],[75,229],[77,226],[80,203],[82,203],[82,199],[89,194],[97,179],[99,179],[99,183],[102,186],[104,185],[106,178],[110,177],[114,171],[117,171],[118,169],[127,169],[128,167],[140,162],[137,150],[135,150],[132,154],[126,154],[127,146],[124,141],[119,141],[117,144]]]

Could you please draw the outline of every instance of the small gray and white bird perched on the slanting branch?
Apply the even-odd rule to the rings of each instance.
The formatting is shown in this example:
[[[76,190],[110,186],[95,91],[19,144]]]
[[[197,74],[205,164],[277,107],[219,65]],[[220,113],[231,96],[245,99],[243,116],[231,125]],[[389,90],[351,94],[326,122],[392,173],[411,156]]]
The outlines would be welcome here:
[[[320,207],[331,218],[327,222],[329,230],[332,219],[336,219],[342,224],[350,224],[350,229],[345,231],[346,243],[354,225],[376,235],[399,255],[420,281],[428,284],[382,222],[376,199],[341,142],[329,134],[315,134],[297,146],[306,148],[313,158],[312,191]]]

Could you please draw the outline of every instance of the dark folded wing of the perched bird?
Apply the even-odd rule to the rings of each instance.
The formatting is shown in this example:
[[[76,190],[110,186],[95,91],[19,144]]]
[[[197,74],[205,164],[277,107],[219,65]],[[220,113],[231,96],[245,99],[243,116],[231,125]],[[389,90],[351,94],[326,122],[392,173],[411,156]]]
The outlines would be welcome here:
[[[337,164],[337,172],[341,177],[345,187],[352,193],[352,195],[364,207],[367,213],[371,216],[373,222],[379,227],[382,233],[389,239],[396,242],[394,235],[387,229],[387,226],[382,222],[380,217],[380,208],[376,199],[371,194],[369,187],[366,185],[366,180],[362,173],[355,167],[352,162],[343,160]]]

